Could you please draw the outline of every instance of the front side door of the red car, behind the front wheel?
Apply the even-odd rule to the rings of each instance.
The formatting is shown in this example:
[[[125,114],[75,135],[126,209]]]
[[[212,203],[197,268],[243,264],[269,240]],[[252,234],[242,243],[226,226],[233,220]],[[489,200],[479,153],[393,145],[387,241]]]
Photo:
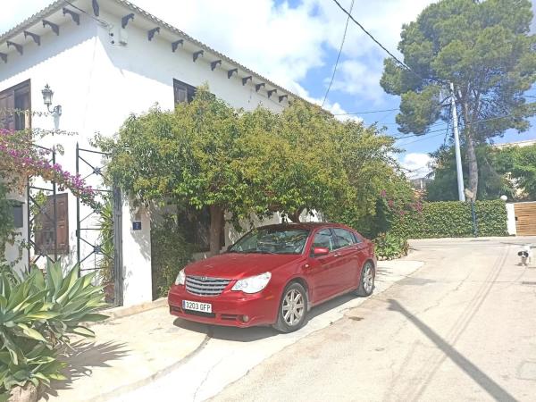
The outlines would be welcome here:
[[[328,248],[327,255],[314,255],[314,247]],[[338,292],[340,260],[335,250],[335,239],[330,229],[314,233],[308,262],[308,281],[312,284],[313,303],[318,303]]]

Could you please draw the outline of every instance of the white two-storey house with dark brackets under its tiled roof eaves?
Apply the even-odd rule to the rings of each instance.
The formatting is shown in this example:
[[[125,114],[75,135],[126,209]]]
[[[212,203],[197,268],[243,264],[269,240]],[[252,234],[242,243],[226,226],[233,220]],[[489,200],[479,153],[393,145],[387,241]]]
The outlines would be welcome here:
[[[205,82],[216,96],[247,110],[264,105],[279,112],[297,98],[124,0],[57,0],[0,36],[0,109],[45,112],[42,90],[48,85],[54,91],[53,113],[4,124],[17,130],[31,126],[63,131],[38,139],[39,145],[61,144],[64,153],[56,155],[56,162],[69,172],[75,172],[79,162],[82,177],[102,163],[102,156],[86,153],[81,161],[77,143],[90,150],[88,140],[96,132],[111,136],[130,113],[147,111],[156,103],[172,109],[175,102],[188,101],[192,90]],[[98,174],[88,180],[101,185]],[[83,220],[91,212],[88,208],[82,207],[77,214],[76,197],[56,197],[65,215],[54,227],[62,243],[60,254],[73,263],[77,253],[83,257],[92,250],[85,242],[77,249],[77,225],[88,230],[95,221]],[[21,236],[26,238],[30,200],[22,197],[21,201]],[[133,221],[141,223],[133,226]],[[149,226],[147,214],[125,201],[121,227],[124,305],[151,299]],[[7,257],[13,258],[14,252],[8,250]],[[23,258],[27,260],[28,255]]]

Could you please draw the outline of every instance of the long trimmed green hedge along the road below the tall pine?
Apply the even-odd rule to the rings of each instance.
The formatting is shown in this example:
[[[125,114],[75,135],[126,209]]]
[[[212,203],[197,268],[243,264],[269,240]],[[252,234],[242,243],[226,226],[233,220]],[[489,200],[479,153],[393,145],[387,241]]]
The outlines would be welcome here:
[[[507,236],[507,208],[500,200],[476,201],[479,236]],[[473,237],[471,204],[460,201],[423,203],[421,212],[411,212],[392,225],[393,234],[403,239]]]

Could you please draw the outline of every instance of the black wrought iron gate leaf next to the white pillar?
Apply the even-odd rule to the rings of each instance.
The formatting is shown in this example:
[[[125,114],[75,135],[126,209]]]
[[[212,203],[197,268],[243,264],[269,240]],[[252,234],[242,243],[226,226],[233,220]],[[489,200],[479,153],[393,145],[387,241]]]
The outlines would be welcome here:
[[[106,177],[104,152],[76,145],[76,173],[93,185],[99,206],[76,205],[77,262],[80,272],[96,271],[106,301],[122,305],[121,191]]]

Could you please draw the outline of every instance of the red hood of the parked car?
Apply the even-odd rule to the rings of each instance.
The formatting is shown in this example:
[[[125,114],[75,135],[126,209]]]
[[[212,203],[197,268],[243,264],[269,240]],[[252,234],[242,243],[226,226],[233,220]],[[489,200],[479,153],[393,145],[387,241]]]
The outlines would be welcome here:
[[[187,275],[240,279],[272,271],[284,264],[302,259],[302,255],[225,253],[186,267]]]

